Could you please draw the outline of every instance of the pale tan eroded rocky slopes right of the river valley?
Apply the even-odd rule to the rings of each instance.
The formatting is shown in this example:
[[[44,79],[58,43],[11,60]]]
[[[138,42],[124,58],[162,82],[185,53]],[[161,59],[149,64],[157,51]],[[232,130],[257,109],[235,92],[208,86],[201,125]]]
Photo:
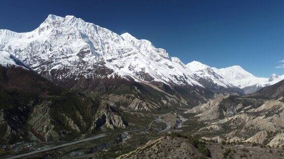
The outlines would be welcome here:
[[[197,133],[225,141],[253,142],[270,146],[284,145],[283,81],[265,87],[248,97],[225,96],[196,106],[196,113],[207,123]]]

